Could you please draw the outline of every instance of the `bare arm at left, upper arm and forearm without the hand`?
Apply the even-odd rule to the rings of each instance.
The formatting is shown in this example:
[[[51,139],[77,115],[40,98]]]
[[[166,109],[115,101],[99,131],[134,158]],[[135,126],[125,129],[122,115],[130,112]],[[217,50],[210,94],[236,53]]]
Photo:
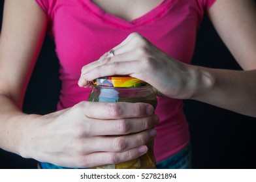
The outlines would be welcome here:
[[[0,37],[0,147],[19,153],[25,88],[46,31],[46,15],[31,0],[6,0]],[[12,135],[13,134],[13,135]]]

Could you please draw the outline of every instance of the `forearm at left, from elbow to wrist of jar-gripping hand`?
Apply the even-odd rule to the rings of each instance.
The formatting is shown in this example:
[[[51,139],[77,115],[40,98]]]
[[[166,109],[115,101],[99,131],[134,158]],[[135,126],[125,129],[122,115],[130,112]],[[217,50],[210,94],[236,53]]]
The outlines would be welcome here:
[[[24,136],[33,132],[32,122],[37,117],[35,114],[24,114],[12,99],[0,94],[0,148],[29,157],[25,154],[29,141]]]

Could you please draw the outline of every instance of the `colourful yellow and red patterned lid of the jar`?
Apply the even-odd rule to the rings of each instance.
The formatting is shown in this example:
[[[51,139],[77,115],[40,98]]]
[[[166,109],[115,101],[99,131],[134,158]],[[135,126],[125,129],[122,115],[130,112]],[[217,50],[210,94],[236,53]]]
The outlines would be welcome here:
[[[135,77],[129,77],[127,75],[116,75],[111,77],[100,77],[91,81],[92,85],[96,86],[108,86],[108,87],[138,87],[138,86],[148,86],[149,84],[136,79]]]

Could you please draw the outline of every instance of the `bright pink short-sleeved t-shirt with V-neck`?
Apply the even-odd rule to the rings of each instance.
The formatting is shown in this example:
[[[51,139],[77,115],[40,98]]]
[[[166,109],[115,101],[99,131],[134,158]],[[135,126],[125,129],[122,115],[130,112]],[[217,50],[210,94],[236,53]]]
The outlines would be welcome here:
[[[57,109],[88,99],[90,88],[77,83],[82,66],[120,44],[131,32],[139,32],[168,55],[191,61],[196,33],[204,13],[216,0],[163,0],[144,16],[132,21],[104,12],[90,0],[35,0],[48,15],[48,32],[56,43],[61,68],[61,96]],[[157,98],[154,152],[161,161],[184,148],[189,129],[182,100]]]

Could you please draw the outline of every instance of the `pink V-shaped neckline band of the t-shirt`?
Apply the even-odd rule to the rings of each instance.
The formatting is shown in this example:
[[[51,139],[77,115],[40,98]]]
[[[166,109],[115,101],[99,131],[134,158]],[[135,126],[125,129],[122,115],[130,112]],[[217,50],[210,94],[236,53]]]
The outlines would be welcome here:
[[[103,20],[105,23],[121,29],[135,29],[136,27],[152,23],[156,19],[163,16],[176,0],[163,0],[159,5],[155,6],[155,8],[146,14],[143,14],[142,16],[131,21],[127,21],[125,19],[119,18],[118,16],[114,16],[113,14],[105,12],[102,8],[95,5],[95,3],[93,3],[91,0],[78,1],[84,8],[86,8],[86,10],[89,10],[93,16]]]

